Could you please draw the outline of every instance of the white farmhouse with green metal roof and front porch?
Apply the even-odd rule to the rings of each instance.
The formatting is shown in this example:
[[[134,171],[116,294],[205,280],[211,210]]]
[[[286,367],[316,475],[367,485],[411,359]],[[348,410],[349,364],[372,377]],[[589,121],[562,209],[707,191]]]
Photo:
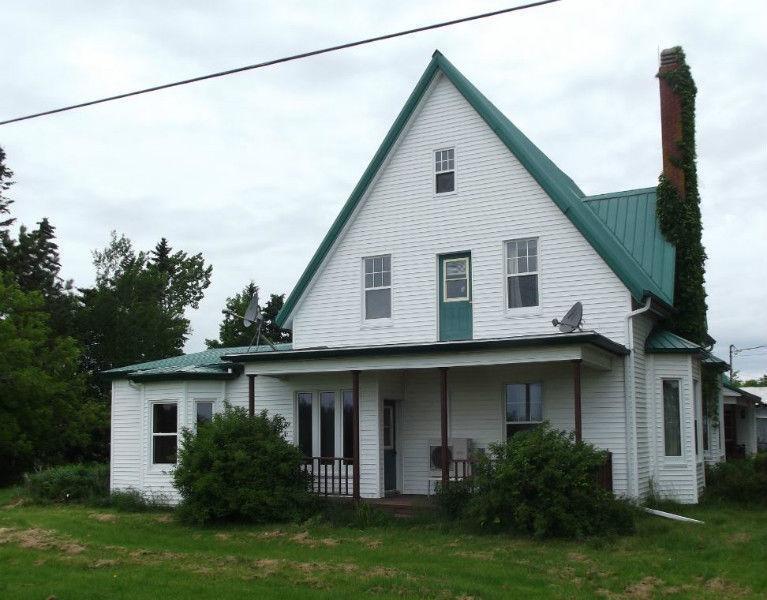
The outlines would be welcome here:
[[[292,345],[108,372],[112,489],[173,498],[180,430],[230,403],[284,415],[321,493],[429,494],[548,421],[606,451],[615,493],[697,502],[725,454],[702,373],[726,365],[659,326],[675,249],[655,202],[585,195],[435,52],[285,302]]]

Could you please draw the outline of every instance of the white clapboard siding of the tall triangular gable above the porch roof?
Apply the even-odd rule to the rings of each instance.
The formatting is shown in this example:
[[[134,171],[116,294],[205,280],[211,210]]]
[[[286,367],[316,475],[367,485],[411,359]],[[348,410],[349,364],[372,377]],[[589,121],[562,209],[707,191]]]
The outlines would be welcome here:
[[[294,346],[429,342],[438,338],[437,255],[468,250],[474,338],[551,333],[576,301],[587,328],[624,343],[627,288],[444,77],[299,303]],[[457,192],[433,193],[433,151],[455,147]],[[540,241],[540,310],[507,314],[503,242]],[[392,319],[362,319],[361,260],[391,254]]]

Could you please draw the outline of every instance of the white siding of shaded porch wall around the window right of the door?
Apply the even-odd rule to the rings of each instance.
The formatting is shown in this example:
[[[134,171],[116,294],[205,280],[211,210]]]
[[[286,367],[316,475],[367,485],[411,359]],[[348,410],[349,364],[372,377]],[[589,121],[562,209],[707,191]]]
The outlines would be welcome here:
[[[505,437],[505,384],[543,384],[544,419],[572,431],[575,423],[573,371],[570,364],[450,369],[448,435],[470,438],[486,448]],[[399,411],[398,467],[405,494],[428,493],[430,439],[440,437],[440,380],[436,370],[406,371]],[[622,364],[612,371],[584,369],[583,438],[613,453],[615,491],[626,492]]]

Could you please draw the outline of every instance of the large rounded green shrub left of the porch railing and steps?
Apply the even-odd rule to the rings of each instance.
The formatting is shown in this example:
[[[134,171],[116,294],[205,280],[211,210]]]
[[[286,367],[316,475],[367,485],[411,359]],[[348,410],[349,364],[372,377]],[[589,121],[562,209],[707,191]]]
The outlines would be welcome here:
[[[193,523],[300,520],[317,508],[301,451],[279,415],[226,407],[197,433],[184,431],[173,479],[178,515]]]

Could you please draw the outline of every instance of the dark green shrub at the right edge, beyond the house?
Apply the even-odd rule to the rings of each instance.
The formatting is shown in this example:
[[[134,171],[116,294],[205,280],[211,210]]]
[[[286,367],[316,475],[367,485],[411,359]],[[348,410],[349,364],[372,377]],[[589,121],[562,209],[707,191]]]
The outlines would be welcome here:
[[[767,456],[728,460],[706,468],[704,501],[767,503]]]

